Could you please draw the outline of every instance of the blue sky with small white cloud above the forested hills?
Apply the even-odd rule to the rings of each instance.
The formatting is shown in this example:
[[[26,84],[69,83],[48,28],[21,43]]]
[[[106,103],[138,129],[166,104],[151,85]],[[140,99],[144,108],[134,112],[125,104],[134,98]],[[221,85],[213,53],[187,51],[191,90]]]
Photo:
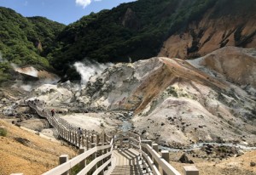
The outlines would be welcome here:
[[[133,1],[136,0],[0,0],[0,6],[12,8],[26,17],[44,16],[68,25],[91,12]]]

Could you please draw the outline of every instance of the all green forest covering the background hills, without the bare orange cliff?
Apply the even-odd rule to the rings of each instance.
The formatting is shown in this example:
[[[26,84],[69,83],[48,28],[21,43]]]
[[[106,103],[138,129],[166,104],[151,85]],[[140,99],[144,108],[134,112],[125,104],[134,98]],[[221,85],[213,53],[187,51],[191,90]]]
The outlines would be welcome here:
[[[77,74],[71,65],[78,60],[148,59],[159,53],[168,37],[185,31],[191,21],[200,21],[207,10],[212,9],[212,18],[246,18],[255,14],[255,4],[255,0],[137,0],[91,13],[70,25],[26,18],[0,7],[0,82],[11,78],[11,63],[73,79]]]

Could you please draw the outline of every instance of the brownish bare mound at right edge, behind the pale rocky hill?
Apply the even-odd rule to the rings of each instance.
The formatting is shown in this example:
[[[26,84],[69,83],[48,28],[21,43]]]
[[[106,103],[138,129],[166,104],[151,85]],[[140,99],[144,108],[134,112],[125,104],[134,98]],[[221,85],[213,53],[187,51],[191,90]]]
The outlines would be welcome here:
[[[256,89],[255,48],[225,47],[189,62],[202,71],[212,71],[212,76],[248,90]]]

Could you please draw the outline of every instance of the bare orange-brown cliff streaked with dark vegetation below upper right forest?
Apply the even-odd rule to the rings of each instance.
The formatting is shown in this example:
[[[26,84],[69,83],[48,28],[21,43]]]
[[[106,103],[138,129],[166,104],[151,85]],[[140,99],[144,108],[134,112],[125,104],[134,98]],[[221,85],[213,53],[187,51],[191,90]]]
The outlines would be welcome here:
[[[233,16],[212,19],[210,16],[208,12],[200,22],[191,23],[182,35],[169,37],[159,56],[185,59],[204,56],[224,46],[256,47],[255,14],[245,19]]]

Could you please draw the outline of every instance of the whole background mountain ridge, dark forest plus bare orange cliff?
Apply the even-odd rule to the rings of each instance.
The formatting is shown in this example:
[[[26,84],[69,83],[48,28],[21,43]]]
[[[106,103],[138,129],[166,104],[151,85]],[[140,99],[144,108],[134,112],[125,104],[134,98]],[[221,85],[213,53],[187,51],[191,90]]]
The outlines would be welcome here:
[[[29,32],[19,31],[20,36],[16,32],[17,38],[28,42],[24,44],[20,39],[11,45],[0,42],[0,48],[3,58],[15,64],[43,65],[54,68],[65,80],[74,80],[79,74],[73,64],[83,59],[99,62],[134,62],[154,56],[193,59],[224,46],[255,48],[255,4],[255,0],[243,3],[139,0],[91,13],[67,26],[42,17],[21,18],[19,14],[20,23],[15,25],[24,23]],[[1,20],[9,23],[8,19],[11,16]],[[6,33],[0,31],[4,39]],[[12,49],[14,44],[17,47]],[[21,45],[27,45],[29,51]],[[32,56],[24,57],[27,54]],[[9,65],[3,67],[3,74],[10,69]]]

